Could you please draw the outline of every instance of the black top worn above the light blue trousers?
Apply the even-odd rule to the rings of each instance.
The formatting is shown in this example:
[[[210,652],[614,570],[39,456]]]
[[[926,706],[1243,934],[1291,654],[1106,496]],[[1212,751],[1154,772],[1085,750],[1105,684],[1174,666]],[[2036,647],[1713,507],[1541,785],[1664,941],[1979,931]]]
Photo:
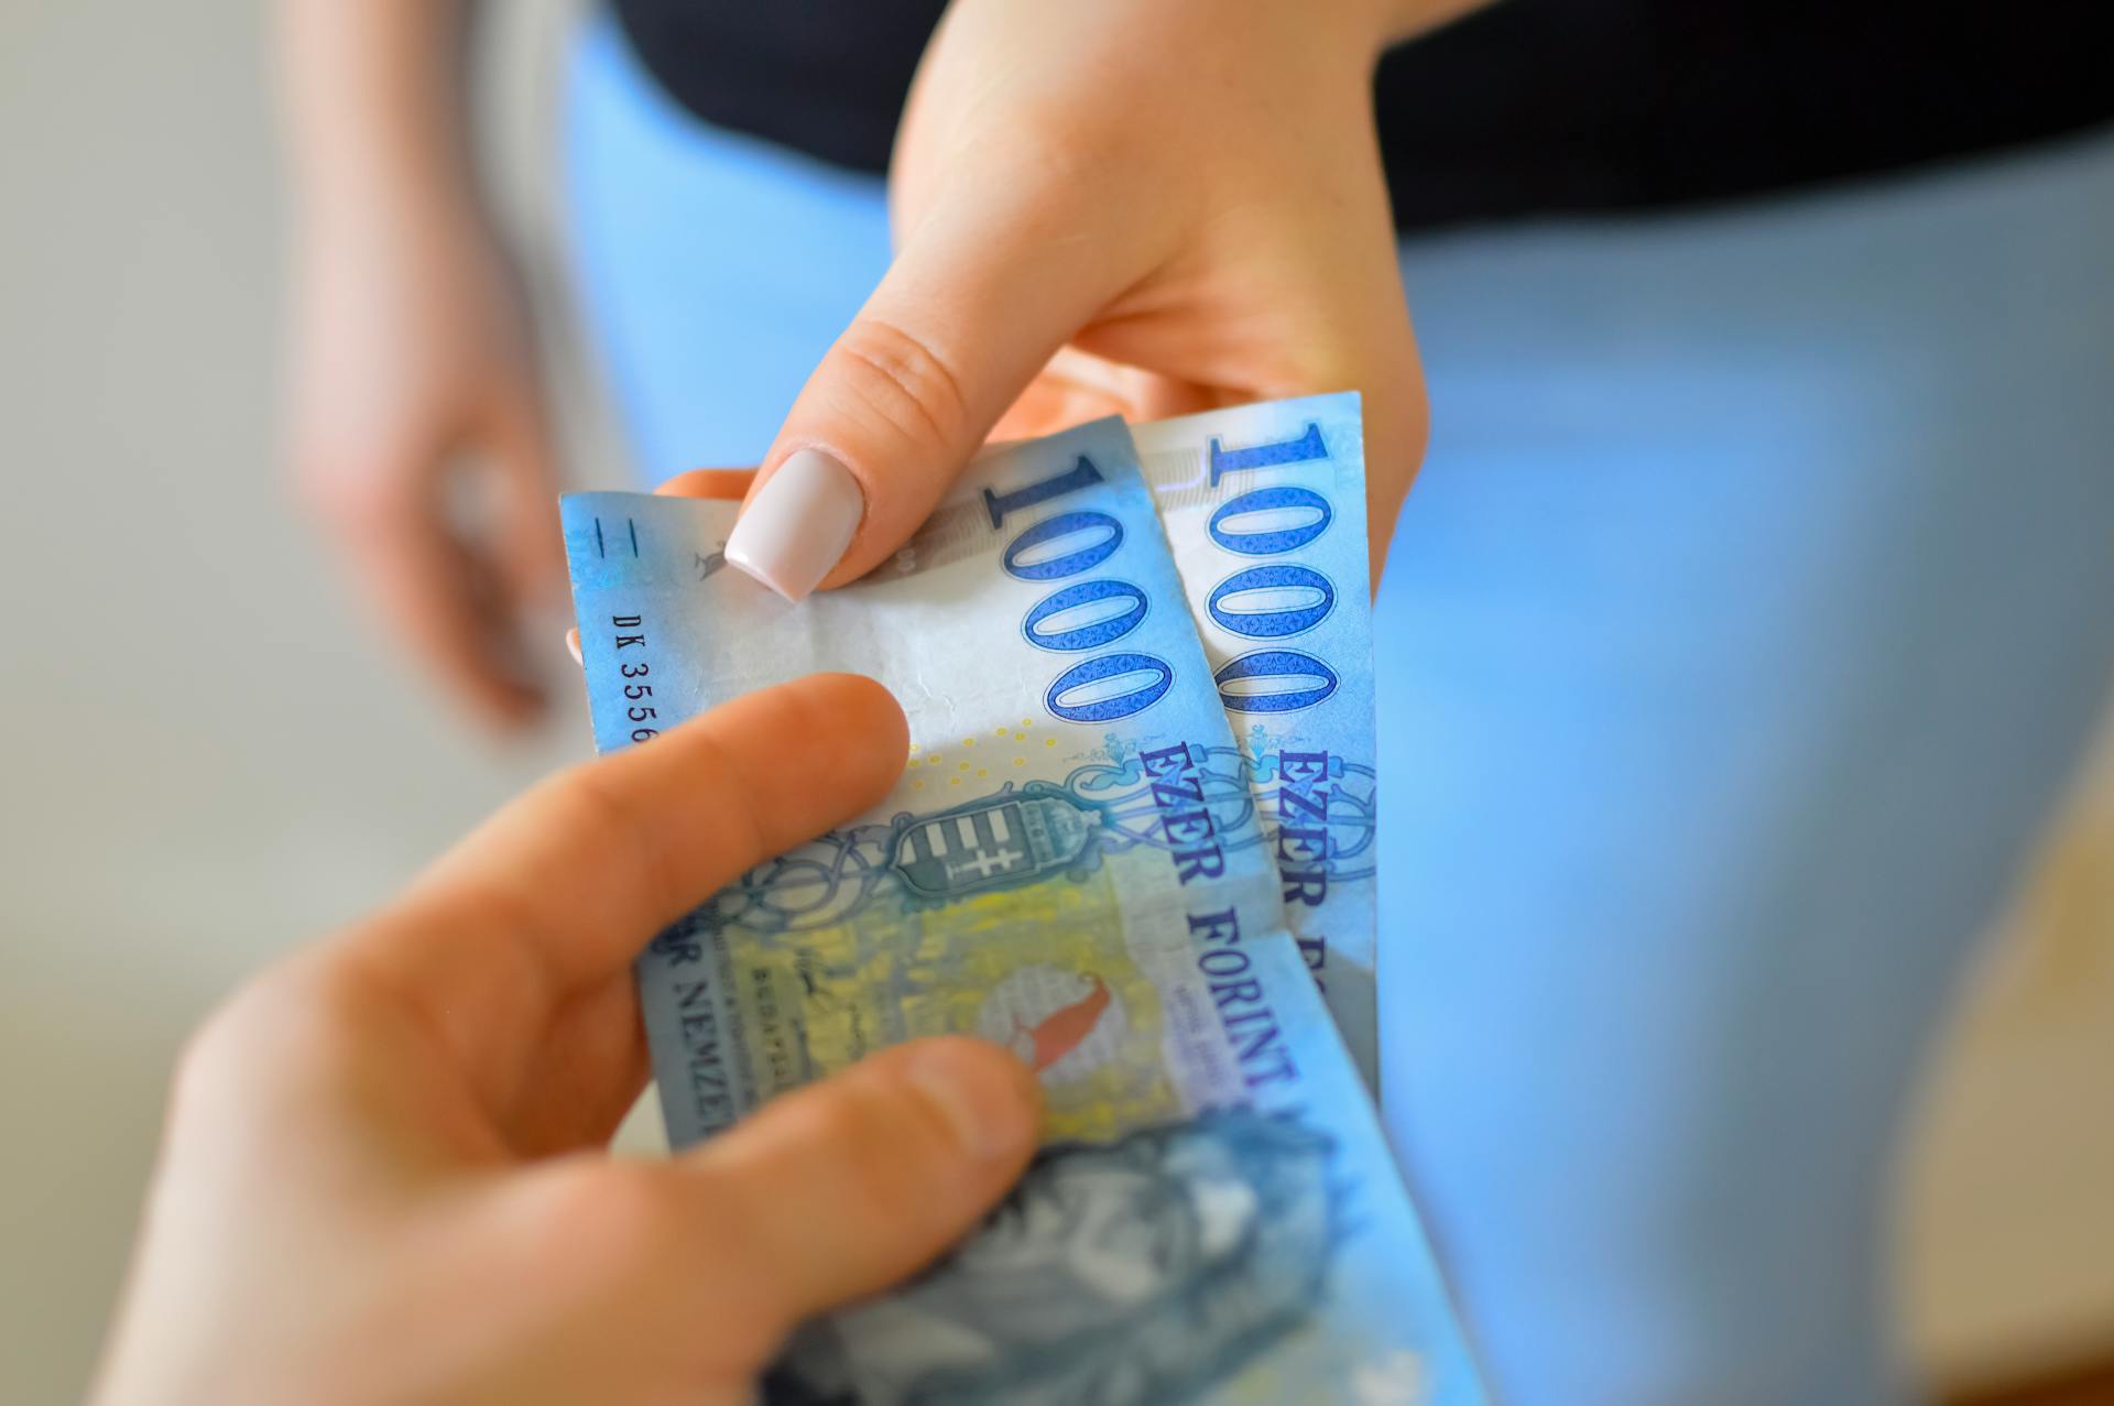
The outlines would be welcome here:
[[[945,0],[611,0],[691,112],[882,171]],[[1325,2],[1325,0],[1323,0]],[[1503,0],[1380,61],[1395,220],[1708,201],[2114,118],[2106,0]]]

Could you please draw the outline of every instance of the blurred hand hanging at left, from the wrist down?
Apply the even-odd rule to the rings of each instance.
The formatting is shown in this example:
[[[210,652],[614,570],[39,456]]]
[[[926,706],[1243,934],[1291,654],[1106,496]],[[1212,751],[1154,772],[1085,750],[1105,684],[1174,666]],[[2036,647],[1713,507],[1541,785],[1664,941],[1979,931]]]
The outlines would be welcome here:
[[[319,220],[300,264],[304,497],[457,698],[520,725],[543,706],[524,615],[562,596],[564,550],[514,269],[467,203]]]

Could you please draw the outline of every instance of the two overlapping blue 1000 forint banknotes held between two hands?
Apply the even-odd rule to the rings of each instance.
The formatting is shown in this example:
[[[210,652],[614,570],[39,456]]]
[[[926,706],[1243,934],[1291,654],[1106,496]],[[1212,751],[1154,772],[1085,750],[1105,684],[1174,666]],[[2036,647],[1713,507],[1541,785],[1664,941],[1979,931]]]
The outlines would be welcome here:
[[[1046,1095],[1006,1203],[765,1400],[1486,1400],[1370,1093],[1364,480],[1357,395],[1099,421],[801,605],[725,567],[734,503],[564,501],[602,751],[816,670],[911,725],[884,806],[638,960],[670,1142],[943,1032]]]

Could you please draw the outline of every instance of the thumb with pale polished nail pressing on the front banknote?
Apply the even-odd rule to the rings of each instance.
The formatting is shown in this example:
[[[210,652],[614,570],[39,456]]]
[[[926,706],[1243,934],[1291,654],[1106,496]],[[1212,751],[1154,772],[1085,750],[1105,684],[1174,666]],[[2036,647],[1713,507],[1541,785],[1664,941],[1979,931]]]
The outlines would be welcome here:
[[[1049,199],[964,195],[913,230],[829,349],[727,537],[789,600],[901,548],[1038,370],[1123,288],[1127,249]]]

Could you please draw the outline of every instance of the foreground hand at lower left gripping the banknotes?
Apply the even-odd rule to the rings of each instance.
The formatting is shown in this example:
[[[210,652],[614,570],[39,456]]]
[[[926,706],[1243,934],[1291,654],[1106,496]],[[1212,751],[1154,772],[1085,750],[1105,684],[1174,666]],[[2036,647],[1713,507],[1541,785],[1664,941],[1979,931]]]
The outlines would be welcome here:
[[[890,1049],[672,1161],[630,960],[875,803],[901,710],[782,685],[558,776],[395,907],[256,979],[178,1074],[95,1400],[746,1402],[799,1319],[939,1254],[1027,1161],[1036,1085]]]

